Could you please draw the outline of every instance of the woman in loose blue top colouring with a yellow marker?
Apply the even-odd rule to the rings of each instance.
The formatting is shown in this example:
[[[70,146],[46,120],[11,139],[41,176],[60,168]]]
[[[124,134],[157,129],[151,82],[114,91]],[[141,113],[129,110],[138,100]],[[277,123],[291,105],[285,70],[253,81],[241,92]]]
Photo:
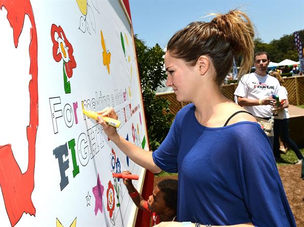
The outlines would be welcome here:
[[[242,53],[240,74],[249,72],[253,36],[249,18],[234,10],[193,22],[170,39],[166,85],[179,102],[192,104],[177,113],[156,151],[136,147],[99,117],[109,139],[135,163],[154,173],[178,172],[177,220],[183,223],[158,226],[295,226],[267,136],[219,88],[233,56]],[[117,119],[112,108],[99,113]]]

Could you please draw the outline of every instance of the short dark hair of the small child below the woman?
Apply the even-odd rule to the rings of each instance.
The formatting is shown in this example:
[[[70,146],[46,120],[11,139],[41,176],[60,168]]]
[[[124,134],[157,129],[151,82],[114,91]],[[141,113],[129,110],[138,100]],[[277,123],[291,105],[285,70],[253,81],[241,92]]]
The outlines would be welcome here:
[[[175,179],[165,179],[158,183],[158,188],[164,193],[164,200],[166,207],[170,208],[176,213],[177,207],[177,185],[178,181]]]

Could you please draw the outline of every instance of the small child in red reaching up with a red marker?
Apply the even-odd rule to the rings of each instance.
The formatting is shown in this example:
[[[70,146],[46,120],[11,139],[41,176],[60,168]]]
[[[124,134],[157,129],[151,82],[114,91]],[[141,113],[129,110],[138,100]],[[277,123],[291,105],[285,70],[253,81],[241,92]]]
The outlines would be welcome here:
[[[124,171],[122,173],[131,174],[130,171]],[[152,217],[151,226],[162,221],[175,220],[177,207],[177,180],[165,179],[159,182],[147,201],[145,201],[141,194],[137,192],[132,184],[132,180],[124,179],[123,182],[135,205],[138,208],[149,212]]]

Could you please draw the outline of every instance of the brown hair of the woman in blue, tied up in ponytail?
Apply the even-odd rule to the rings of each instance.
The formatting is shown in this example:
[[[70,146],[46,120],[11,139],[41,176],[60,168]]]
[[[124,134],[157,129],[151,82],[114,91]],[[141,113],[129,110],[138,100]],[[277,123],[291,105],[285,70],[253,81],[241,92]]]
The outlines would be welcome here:
[[[239,76],[250,71],[253,62],[254,31],[247,15],[239,10],[212,14],[211,22],[192,22],[170,39],[167,51],[195,66],[201,55],[207,55],[216,72],[219,85],[232,67],[233,57],[243,55]]]

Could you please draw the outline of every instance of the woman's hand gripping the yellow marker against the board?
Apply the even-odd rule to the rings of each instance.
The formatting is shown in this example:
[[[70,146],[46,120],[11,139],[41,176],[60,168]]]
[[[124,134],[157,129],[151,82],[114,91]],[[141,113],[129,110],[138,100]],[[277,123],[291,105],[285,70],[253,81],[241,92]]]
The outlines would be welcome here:
[[[111,117],[113,119],[118,119],[118,115],[112,107],[107,107],[101,111],[98,111],[97,114],[104,117]],[[98,116],[98,123],[102,126],[104,133],[108,136],[110,140],[113,141],[114,138],[119,137],[116,127],[110,126],[105,123],[102,117]]]

